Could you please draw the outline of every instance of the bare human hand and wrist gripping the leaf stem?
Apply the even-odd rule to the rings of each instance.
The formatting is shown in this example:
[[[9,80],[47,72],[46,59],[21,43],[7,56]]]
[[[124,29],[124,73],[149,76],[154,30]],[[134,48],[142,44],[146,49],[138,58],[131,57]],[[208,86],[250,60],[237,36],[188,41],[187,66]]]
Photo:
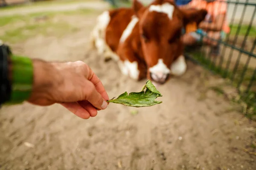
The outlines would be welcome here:
[[[33,59],[33,67],[33,90],[28,102],[42,106],[60,103],[82,119],[94,117],[97,110],[107,108],[108,94],[84,62],[53,63]]]

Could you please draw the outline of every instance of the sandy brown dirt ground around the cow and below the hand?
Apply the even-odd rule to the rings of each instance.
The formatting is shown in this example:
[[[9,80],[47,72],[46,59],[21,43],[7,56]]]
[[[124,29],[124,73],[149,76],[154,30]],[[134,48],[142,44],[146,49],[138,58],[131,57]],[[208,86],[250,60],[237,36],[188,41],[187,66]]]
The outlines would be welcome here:
[[[38,35],[12,44],[12,49],[48,61],[82,60],[102,80],[110,98],[140,91],[146,80],[124,77],[115,62],[104,62],[88,49],[95,18],[65,17],[80,29],[63,37]],[[0,170],[255,170],[256,122],[223,96],[205,90],[205,75],[188,61],[183,77],[158,88],[162,104],[110,104],[88,120],[60,105],[3,107]],[[207,76],[207,81],[222,80]]]

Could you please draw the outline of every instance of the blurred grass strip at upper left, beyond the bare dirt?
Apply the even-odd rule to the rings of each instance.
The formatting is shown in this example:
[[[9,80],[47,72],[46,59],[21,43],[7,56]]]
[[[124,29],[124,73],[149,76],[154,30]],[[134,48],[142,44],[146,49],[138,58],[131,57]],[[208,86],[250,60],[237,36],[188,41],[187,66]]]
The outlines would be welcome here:
[[[54,11],[54,12],[38,12],[26,15],[14,15],[0,17],[0,27],[3,28],[3,34],[0,34],[0,40],[4,42],[20,42],[37,34],[61,36],[67,32],[77,30],[76,26],[71,26],[63,20],[54,20],[55,17],[66,16],[89,16],[99,11],[81,8],[73,11]],[[46,18],[41,21],[38,18]],[[1,30],[2,31],[2,30]]]

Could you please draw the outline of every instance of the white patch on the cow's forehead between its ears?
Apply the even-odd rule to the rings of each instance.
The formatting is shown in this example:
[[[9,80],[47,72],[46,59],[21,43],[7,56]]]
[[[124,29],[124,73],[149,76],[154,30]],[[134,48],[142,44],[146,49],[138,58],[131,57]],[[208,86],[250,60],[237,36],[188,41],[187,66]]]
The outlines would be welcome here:
[[[169,19],[172,20],[174,6],[170,3],[163,3],[162,5],[151,5],[149,7],[149,11],[165,13],[168,15]]]

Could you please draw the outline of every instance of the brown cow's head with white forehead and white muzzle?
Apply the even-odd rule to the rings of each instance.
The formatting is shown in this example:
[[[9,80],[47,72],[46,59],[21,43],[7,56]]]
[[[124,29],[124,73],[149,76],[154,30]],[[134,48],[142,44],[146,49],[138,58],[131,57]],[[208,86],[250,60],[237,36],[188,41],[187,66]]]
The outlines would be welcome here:
[[[207,11],[180,9],[173,0],[154,0],[146,7],[134,0],[133,9],[139,18],[147,78],[163,84],[170,77],[172,62],[183,54],[182,28],[199,24]]]

